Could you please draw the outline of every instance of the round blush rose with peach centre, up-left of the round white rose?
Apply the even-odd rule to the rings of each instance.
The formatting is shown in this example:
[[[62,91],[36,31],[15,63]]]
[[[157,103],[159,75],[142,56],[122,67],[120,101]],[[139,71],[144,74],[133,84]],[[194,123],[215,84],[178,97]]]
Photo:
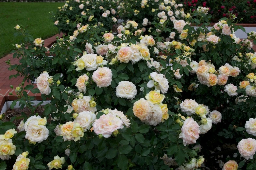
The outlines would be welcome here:
[[[98,67],[98,69],[94,71],[92,78],[98,87],[108,87],[111,85],[112,72],[108,67]]]

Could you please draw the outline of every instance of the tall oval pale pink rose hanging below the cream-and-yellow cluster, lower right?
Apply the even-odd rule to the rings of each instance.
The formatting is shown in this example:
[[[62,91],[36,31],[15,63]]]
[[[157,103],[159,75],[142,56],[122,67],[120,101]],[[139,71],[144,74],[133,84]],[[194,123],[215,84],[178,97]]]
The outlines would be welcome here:
[[[196,140],[199,138],[200,129],[193,118],[186,119],[180,130],[179,138],[183,140],[184,146],[196,143]]]

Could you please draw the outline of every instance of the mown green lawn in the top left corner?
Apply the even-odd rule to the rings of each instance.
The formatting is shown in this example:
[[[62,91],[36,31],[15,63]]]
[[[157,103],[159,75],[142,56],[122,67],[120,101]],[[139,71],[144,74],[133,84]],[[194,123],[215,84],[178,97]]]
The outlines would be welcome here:
[[[14,37],[14,27],[23,25],[34,38],[49,38],[58,33],[51,19],[50,11],[56,12],[57,7],[64,3],[0,3],[0,58],[14,49],[12,44],[19,44],[21,38]]]

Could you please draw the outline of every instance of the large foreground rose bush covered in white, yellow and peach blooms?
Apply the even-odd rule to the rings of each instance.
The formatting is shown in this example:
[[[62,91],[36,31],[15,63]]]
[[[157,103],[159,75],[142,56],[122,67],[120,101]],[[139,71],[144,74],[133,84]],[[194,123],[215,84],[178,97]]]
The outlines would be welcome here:
[[[82,24],[50,49],[17,27],[20,64],[7,63],[37,86],[15,88],[31,115],[1,122],[1,167],[255,169],[255,32],[241,41],[235,17],[208,30],[207,11],[148,34],[132,20],[118,35]],[[50,100],[42,116],[25,90]]]

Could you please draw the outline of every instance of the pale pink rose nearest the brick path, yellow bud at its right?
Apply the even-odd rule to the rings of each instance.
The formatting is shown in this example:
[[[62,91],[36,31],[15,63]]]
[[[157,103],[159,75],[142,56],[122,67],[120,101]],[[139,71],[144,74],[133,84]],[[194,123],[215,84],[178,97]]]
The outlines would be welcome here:
[[[42,73],[37,78],[37,88],[41,94],[49,95],[51,92],[50,83],[48,82],[49,75],[48,73]]]

